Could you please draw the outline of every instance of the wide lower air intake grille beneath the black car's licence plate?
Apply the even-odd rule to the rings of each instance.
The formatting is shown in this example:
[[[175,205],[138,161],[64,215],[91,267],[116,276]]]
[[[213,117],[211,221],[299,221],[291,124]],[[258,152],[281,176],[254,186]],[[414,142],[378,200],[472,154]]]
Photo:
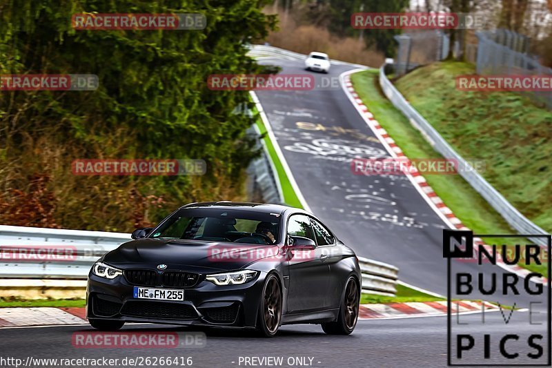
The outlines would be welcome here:
[[[191,305],[166,302],[126,302],[121,314],[131,317],[169,318],[172,320],[197,318],[197,313]]]

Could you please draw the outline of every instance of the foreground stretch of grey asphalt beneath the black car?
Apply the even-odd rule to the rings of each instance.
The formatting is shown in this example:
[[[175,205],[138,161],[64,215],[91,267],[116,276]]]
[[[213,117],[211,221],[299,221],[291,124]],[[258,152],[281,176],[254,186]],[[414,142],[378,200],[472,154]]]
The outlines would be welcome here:
[[[511,328],[523,335],[527,331],[524,318],[529,313],[515,314]],[[480,325],[480,315],[460,316],[462,323]],[[500,313],[487,313],[489,326],[497,325]],[[492,332],[489,327],[486,331]],[[207,330],[206,346],[189,349],[77,349],[72,345],[75,332],[95,331],[90,326],[29,327],[0,329],[3,358],[119,358],[191,356],[192,367],[246,367],[239,357],[282,356],[280,367],[290,357],[311,357],[312,367],[444,367],[446,366],[446,317],[404,318],[398,320],[362,320],[351,336],[328,336],[319,326],[284,326],[275,338],[257,338],[245,331]],[[133,325],[123,331],[191,331],[182,327]],[[478,341],[480,342],[480,341]],[[494,341],[493,341],[494,343]],[[526,343],[508,345],[513,351],[530,352]],[[482,344],[471,353],[481,356]],[[486,363],[504,362],[493,345]],[[469,356],[468,356],[469,357]],[[2,367],[7,367],[2,365]],[[37,366],[39,367],[39,366]],[[126,366],[121,366],[126,367]],[[148,367],[146,365],[146,367]],[[251,367],[251,366],[249,366]],[[42,368],[42,367],[41,367]]]

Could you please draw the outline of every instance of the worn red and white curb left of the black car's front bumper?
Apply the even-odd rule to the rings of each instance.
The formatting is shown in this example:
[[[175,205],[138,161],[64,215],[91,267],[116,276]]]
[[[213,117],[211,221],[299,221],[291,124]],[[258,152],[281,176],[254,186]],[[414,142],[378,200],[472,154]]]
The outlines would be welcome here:
[[[88,324],[84,308],[0,308],[0,327]]]

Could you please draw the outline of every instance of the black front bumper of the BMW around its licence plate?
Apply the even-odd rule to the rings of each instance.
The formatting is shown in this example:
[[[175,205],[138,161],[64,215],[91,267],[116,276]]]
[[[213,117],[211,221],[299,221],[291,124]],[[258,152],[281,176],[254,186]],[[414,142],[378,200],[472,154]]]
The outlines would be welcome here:
[[[184,301],[134,298],[134,286],[124,276],[113,280],[88,276],[86,317],[170,325],[255,327],[266,273],[243,285],[217,286],[201,281],[183,289]],[[164,287],[155,287],[164,289]]]

